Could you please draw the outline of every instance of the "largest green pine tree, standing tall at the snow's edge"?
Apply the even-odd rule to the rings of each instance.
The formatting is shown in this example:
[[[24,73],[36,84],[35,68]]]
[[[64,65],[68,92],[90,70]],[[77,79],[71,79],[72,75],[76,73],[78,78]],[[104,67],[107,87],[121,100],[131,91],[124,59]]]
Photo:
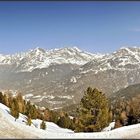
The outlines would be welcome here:
[[[108,100],[96,88],[87,88],[78,108],[75,131],[101,131],[109,123]]]

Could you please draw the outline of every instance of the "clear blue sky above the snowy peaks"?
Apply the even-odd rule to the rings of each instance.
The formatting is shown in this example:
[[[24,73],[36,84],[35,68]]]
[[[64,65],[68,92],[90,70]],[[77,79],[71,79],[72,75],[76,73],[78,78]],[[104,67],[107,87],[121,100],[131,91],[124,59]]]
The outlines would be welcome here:
[[[140,2],[0,2],[0,53],[72,46],[93,53],[140,46]]]

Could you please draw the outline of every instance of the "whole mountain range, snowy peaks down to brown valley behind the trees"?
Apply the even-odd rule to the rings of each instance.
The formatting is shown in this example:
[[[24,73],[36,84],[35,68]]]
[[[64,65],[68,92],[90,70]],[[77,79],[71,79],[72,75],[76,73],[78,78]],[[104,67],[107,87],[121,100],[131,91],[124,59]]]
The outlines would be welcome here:
[[[110,54],[68,47],[0,55],[0,89],[20,90],[34,103],[52,109],[78,103],[88,86],[110,96],[137,83],[139,47],[122,47]]]

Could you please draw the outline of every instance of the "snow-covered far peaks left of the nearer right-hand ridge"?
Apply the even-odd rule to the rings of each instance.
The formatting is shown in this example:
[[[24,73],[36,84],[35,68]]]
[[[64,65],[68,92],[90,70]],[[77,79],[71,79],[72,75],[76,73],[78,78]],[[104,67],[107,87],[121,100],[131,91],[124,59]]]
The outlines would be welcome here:
[[[17,70],[32,71],[36,68],[47,68],[55,64],[83,65],[88,61],[100,58],[101,54],[92,54],[81,51],[77,47],[44,50],[35,48],[28,52],[15,55],[0,55],[0,65],[14,65]]]

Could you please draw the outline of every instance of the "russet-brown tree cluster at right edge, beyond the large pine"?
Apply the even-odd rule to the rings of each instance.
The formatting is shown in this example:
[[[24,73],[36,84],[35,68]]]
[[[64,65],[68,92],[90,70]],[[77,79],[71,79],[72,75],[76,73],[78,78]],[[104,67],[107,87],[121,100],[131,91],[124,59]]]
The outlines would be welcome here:
[[[115,128],[140,123],[140,96],[130,99],[118,98],[112,102]]]

